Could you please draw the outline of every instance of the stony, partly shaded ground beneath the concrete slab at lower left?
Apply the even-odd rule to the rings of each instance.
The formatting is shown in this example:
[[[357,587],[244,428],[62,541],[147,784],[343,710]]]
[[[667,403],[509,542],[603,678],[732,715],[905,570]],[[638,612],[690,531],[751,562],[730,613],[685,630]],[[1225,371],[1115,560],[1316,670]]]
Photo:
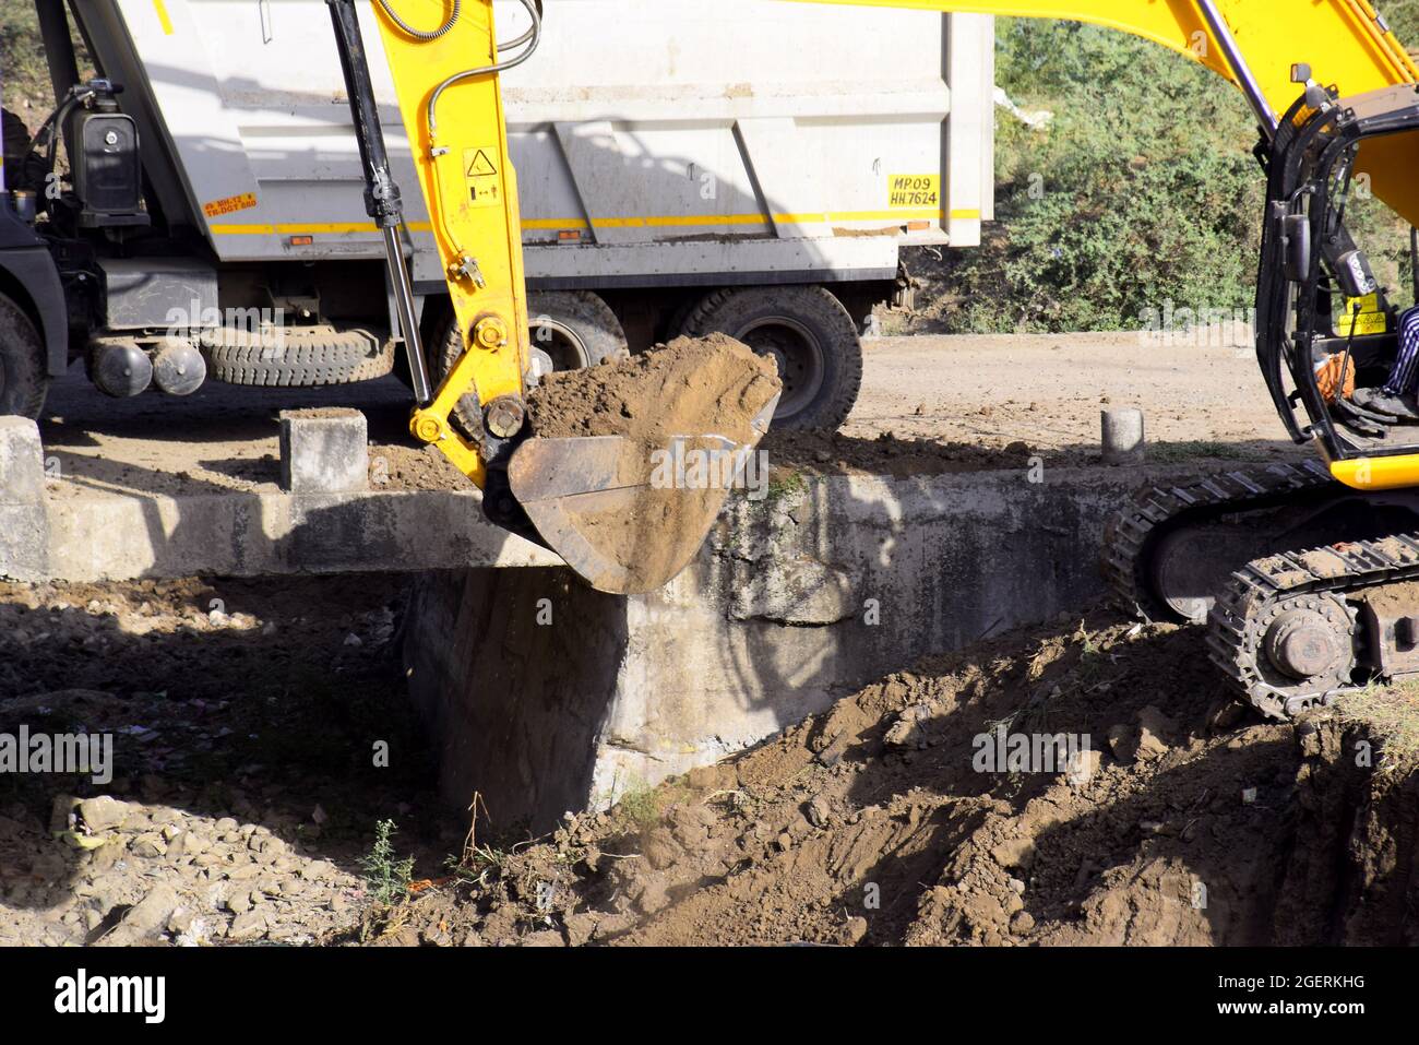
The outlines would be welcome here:
[[[457,850],[403,584],[0,585],[0,734],[112,743],[106,782],[0,774],[0,944],[312,943],[358,923],[380,821]]]

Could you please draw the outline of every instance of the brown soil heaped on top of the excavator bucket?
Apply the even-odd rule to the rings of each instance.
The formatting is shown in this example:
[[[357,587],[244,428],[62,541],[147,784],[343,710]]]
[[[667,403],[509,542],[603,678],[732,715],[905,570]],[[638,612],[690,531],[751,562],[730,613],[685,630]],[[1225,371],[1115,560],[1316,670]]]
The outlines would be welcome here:
[[[626,436],[664,446],[674,436],[715,433],[748,443],[751,422],[780,388],[771,361],[711,334],[551,373],[528,396],[528,412],[532,433],[551,439]]]

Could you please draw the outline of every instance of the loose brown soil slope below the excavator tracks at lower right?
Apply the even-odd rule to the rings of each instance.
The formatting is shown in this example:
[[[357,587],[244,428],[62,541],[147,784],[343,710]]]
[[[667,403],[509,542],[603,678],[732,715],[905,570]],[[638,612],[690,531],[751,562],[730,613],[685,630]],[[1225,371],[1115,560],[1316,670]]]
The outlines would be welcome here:
[[[1415,785],[1386,787],[1399,804],[1389,808],[1347,789],[1315,755],[1314,738],[1340,726],[1320,723],[1243,713],[1196,630],[1093,613],[890,676],[752,753],[576,818],[552,839],[470,850],[461,877],[394,912],[373,909],[363,937],[1391,939],[1396,930],[1345,912],[1381,886],[1393,893],[1391,913],[1412,900],[1412,853],[1398,866],[1392,853],[1415,819]],[[1059,734],[1087,738],[1090,753],[983,764],[998,743]],[[1374,852],[1347,858],[1354,805],[1389,826],[1376,828]]]

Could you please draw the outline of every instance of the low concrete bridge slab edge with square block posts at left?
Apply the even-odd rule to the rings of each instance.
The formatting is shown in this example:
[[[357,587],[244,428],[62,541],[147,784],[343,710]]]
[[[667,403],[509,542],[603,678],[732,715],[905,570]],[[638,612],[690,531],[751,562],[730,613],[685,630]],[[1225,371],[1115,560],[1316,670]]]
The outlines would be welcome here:
[[[358,488],[368,471],[365,419],[355,410],[345,415],[339,423],[282,416],[282,473],[295,477],[294,493],[162,493],[82,476],[47,484],[35,423],[0,417],[0,578],[89,582],[561,564],[490,522],[477,490]]]

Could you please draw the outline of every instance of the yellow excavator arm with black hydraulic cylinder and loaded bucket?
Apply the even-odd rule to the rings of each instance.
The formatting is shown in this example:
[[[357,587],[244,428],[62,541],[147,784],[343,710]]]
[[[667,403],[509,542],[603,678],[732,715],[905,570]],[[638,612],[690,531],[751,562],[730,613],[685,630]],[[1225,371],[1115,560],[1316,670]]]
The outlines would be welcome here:
[[[400,186],[385,149],[356,0],[328,3],[360,146],[365,206],[383,230],[417,400],[410,430],[482,488],[490,518],[539,540],[595,588],[627,593],[661,586],[698,551],[729,484],[667,488],[657,454],[671,443],[725,454],[742,469],[773,416],[778,379],[762,375],[752,356],[714,378],[707,356],[684,381],[666,378],[666,388],[653,389],[666,416],[683,425],[668,436],[657,430],[653,412],[640,409],[623,409],[612,426],[617,430],[607,434],[545,437],[531,430],[526,393],[536,383],[536,354],[498,75],[535,50],[541,0],[519,0],[529,28],[502,43],[492,0],[372,0],[453,311],[426,352],[404,257]],[[707,381],[721,382],[718,399],[705,395],[714,390]],[[744,423],[704,416],[721,402],[739,406]],[[599,430],[592,419],[580,420]]]

